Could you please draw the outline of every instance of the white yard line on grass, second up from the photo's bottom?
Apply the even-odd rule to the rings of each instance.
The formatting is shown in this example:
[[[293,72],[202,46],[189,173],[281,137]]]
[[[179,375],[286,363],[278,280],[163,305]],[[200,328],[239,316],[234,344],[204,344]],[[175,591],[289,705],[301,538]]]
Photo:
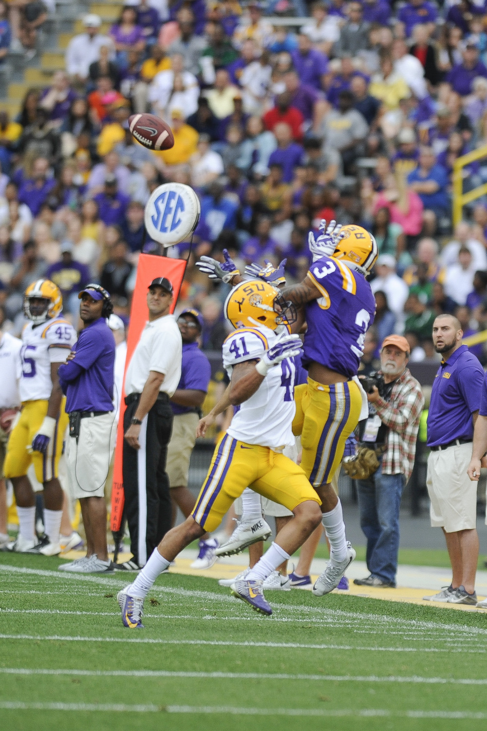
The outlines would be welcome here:
[[[422,678],[421,675],[303,675],[290,673],[225,673],[199,670],[67,670],[66,668],[0,667],[0,675],[81,675],[102,678],[221,678],[226,680],[326,681],[334,683],[419,683],[421,685],[485,686],[487,678]]]

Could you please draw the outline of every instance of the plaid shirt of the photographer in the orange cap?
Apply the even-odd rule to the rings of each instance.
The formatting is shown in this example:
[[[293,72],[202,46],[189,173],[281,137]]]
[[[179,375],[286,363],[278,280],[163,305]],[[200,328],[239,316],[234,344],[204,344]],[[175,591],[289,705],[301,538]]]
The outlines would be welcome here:
[[[383,474],[404,474],[409,480],[414,466],[416,436],[424,406],[421,385],[406,368],[394,382],[388,401],[379,397],[375,410],[389,427],[387,449],[382,458]]]

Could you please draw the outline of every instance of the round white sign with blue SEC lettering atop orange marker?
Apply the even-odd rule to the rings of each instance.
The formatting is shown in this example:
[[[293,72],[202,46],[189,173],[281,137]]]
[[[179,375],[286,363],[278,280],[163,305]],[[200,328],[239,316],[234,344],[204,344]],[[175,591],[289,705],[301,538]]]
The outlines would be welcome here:
[[[199,198],[183,183],[158,186],[145,205],[145,228],[163,246],[187,240],[198,225]]]

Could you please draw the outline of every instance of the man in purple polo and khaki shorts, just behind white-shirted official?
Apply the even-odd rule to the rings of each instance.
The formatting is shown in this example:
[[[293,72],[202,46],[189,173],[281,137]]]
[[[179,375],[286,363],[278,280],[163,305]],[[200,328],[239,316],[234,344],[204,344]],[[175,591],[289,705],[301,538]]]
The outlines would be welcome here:
[[[184,310],[177,318],[177,327],[183,338],[181,379],[171,396],[172,436],[167,447],[166,471],[172,498],[172,525],[177,507],[188,518],[194,507],[194,495],[188,490],[189,461],[196,428],[201,418],[201,406],[210,382],[210,361],[199,349],[198,339],[203,330],[203,317],[198,310]]]

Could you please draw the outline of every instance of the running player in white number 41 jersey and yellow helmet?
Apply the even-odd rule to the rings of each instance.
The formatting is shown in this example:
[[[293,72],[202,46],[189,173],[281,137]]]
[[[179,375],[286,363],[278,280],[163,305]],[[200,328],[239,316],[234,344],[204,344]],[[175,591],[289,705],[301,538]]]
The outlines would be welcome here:
[[[321,522],[317,493],[301,467],[283,455],[284,447],[294,444],[292,358],[301,352],[299,336],[288,333],[291,313],[280,292],[262,281],[244,282],[230,292],[225,315],[237,329],[223,344],[223,363],[231,378],[228,404],[239,410],[215,447],[193,512],[166,534],[134,583],[118,593],[124,626],[143,626],[144,599],[158,575],[191,541],[217,529],[248,485],[294,514],[245,579],[231,586],[234,596],[253,609],[272,614],[262,592],[264,580]]]

